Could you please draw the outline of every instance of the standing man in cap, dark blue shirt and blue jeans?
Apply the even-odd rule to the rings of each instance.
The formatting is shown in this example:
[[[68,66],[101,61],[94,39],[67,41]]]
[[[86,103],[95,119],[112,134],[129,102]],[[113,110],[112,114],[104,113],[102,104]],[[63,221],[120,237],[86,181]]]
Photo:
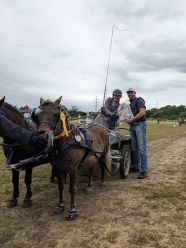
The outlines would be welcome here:
[[[139,171],[139,179],[144,179],[147,175],[147,145],[146,145],[146,107],[145,101],[141,97],[136,97],[133,88],[127,90],[130,101],[130,108],[134,115],[131,119],[126,119],[130,124],[130,134],[132,139],[133,172]]]

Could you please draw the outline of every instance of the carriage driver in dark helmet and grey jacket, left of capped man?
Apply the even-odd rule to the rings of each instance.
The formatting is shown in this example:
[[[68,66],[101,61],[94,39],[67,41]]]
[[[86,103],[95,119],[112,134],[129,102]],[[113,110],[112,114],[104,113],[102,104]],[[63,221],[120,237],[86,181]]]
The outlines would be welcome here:
[[[94,123],[104,125],[108,129],[114,129],[119,119],[117,110],[120,105],[121,96],[122,91],[115,89],[112,93],[112,97],[106,99],[104,106],[101,108],[101,113],[97,115]]]

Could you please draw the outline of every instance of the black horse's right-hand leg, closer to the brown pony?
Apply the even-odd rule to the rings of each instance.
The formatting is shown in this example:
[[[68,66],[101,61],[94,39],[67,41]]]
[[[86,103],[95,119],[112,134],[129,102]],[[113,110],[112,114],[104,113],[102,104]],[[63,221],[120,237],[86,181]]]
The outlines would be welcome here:
[[[24,208],[29,208],[32,205],[31,183],[32,183],[32,168],[25,170],[25,184],[26,184],[27,192],[25,195],[25,199],[23,200]]]

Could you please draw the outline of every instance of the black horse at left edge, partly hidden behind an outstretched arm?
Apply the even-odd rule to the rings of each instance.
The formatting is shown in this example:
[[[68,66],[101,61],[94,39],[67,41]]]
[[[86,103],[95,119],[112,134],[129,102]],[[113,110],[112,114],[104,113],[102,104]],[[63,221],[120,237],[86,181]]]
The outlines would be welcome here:
[[[5,97],[0,100],[0,114],[5,116],[7,119],[13,123],[29,129],[27,122],[24,117],[19,113],[19,111],[12,105],[4,102]],[[14,145],[15,142],[11,139],[6,138],[6,134],[3,135],[4,143]],[[9,163],[17,163],[19,160],[32,157],[38,154],[38,148],[33,146],[18,145],[14,147],[4,146],[4,153],[6,158],[9,159]],[[13,153],[12,153],[13,152]],[[12,153],[12,155],[11,155]],[[31,206],[31,182],[32,182],[32,168],[29,167],[25,170],[25,184],[26,184],[26,195],[23,201],[23,207]],[[17,205],[17,198],[19,197],[19,171],[12,170],[12,183],[13,183],[13,195],[8,202],[8,207],[15,207]]]

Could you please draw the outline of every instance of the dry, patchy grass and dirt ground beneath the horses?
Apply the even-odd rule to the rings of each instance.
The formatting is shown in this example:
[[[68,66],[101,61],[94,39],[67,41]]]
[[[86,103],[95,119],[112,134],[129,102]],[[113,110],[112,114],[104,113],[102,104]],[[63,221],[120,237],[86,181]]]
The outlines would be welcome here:
[[[77,190],[78,218],[72,222],[65,220],[68,188],[65,213],[53,213],[58,190],[49,183],[49,166],[34,170],[30,209],[21,207],[23,179],[19,205],[7,209],[11,179],[3,172],[7,178],[0,196],[0,247],[185,248],[186,133],[149,142],[148,150],[145,180],[137,179],[138,174],[126,180],[108,178],[104,186],[96,180],[87,194],[82,178]]]

